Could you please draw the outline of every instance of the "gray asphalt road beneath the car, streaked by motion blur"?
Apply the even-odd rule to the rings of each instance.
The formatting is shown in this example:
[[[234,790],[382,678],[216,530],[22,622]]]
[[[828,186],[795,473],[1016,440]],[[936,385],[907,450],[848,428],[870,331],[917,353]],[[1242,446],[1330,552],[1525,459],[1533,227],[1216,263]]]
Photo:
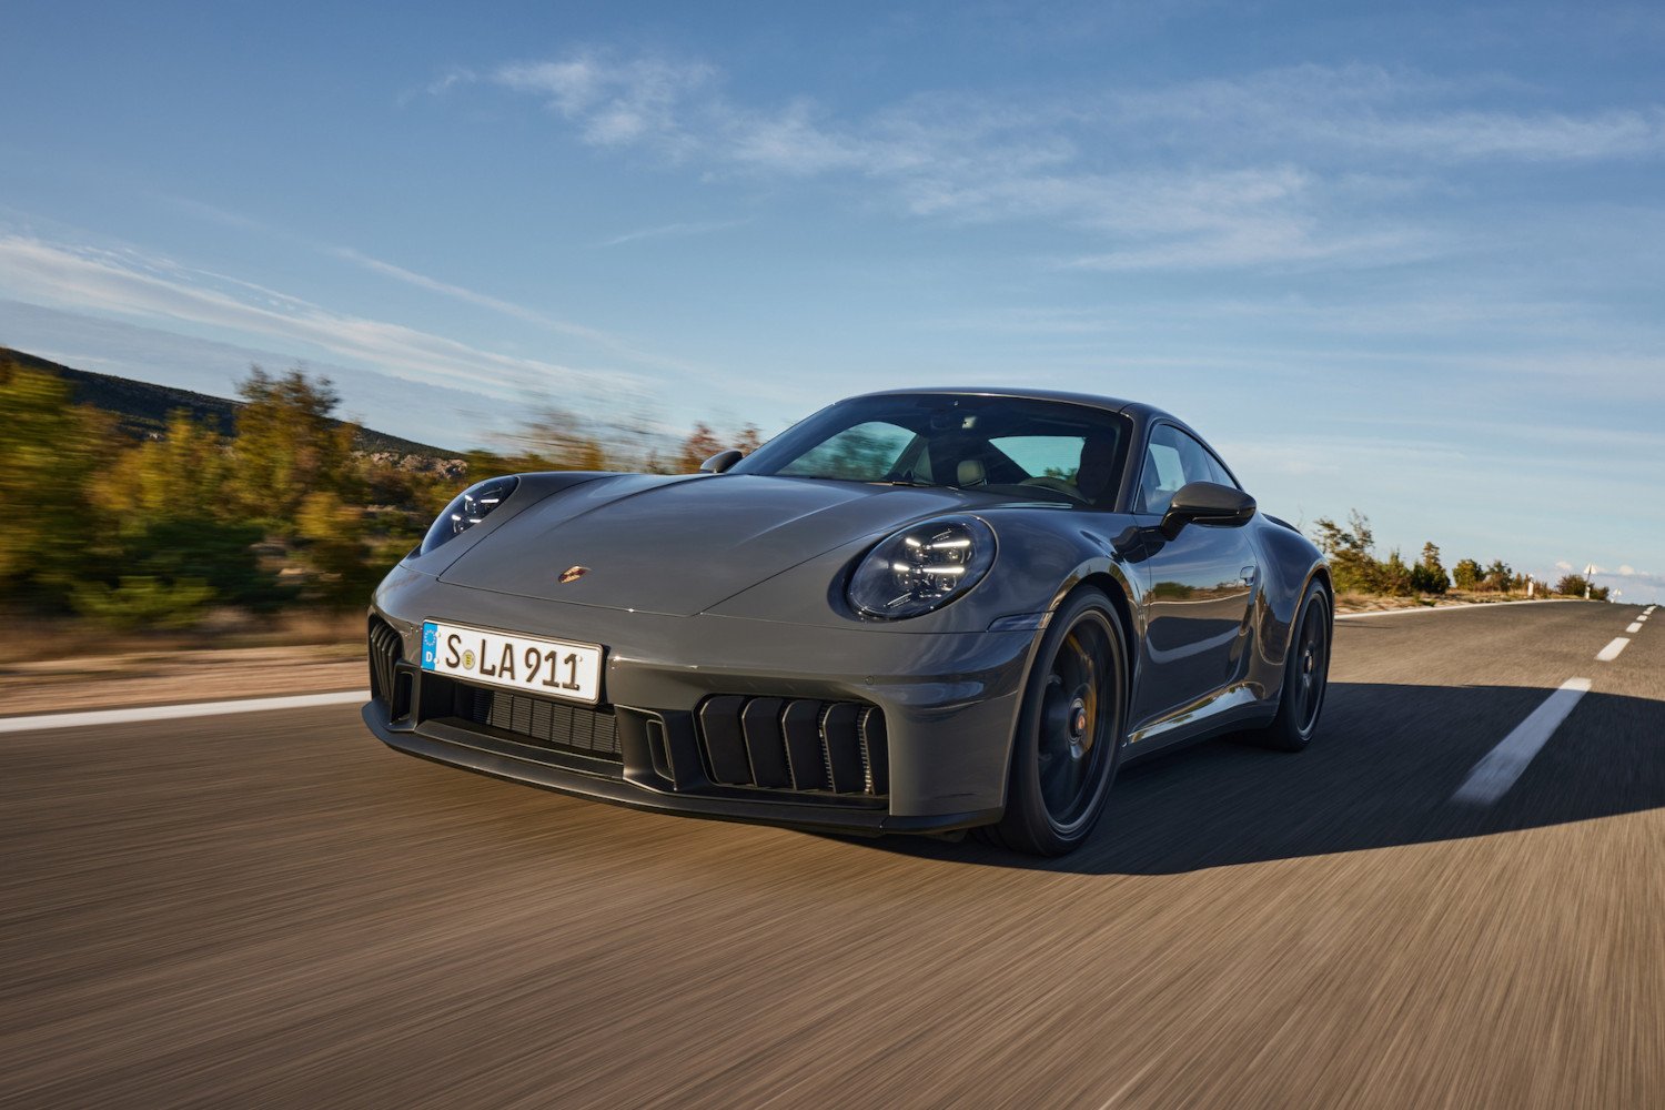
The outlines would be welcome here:
[[[351,707],[0,736],[0,1103],[1660,1107],[1665,609],[1597,661],[1638,612],[1345,622],[1307,752],[1129,769],[1052,864],[569,800]]]

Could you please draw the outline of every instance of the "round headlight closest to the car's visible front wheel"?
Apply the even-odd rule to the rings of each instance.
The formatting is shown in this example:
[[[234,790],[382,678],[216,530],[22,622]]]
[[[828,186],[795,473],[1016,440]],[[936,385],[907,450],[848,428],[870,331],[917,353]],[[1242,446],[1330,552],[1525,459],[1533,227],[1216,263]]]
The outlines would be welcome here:
[[[869,617],[917,617],[969,591],[992,562],[994,529],[977,518],[926,521],[867,553],[849,582],[849,602]]]

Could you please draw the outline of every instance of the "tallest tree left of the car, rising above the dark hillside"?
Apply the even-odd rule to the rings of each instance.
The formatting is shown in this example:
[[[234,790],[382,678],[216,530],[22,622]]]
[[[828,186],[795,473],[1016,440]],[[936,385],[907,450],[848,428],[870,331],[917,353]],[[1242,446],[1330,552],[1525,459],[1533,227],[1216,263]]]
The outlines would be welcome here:
[[[328,378],[300,366],[268,374],[258,364],[238,383],[236,501],[250,519],[291,533],[313,493],[348,493],[358,426],[331,418],[341,398]]]

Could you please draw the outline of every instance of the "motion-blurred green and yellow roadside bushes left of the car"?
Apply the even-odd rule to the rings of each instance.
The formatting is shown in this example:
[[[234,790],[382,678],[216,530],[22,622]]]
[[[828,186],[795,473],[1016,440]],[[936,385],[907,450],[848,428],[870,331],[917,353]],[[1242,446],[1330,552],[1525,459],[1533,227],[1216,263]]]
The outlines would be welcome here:
[[[215,634],[215,621],[361,611],[470,476],[529,469],[696,469],[719,446],[696,424],[674,451],[644,421],[533,409],[501,453],[413,459],[355,451],[326,378],[250,368],[233,428],[168,416],[135,439],[73,404],[48,369],[0,364],[0,612],[100,634]],[[756,428],[731,438],[756,446]],[[713,446],[718,444],[718,446]],[[355,632],[356,637],[356,632]]]

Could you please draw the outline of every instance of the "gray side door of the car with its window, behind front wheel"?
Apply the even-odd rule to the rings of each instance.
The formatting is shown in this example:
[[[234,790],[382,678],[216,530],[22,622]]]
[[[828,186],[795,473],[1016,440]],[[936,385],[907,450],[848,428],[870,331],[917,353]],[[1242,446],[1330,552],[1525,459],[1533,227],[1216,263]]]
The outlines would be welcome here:
[[[1157,531],[1174,493],[1194,481],[1235,486],[1200,441],[1174,424],[1156,424],[1134,504],[1149,576],[1134,729],[1205,699],[1242,674],[1259,576],[1250,529],[1187,524],[1174,539]]]

